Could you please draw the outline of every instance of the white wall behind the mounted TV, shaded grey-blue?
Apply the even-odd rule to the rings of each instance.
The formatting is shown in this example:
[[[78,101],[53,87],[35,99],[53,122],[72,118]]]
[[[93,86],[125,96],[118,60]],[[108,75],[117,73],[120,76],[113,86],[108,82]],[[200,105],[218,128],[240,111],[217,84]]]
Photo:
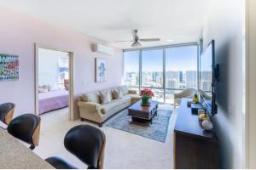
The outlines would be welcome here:
[[[212,0],[203,29],[204,46],[215,40],[220,69],[218,114],[212,120],[224,168],[243,166],[243,7],[244,0]]]

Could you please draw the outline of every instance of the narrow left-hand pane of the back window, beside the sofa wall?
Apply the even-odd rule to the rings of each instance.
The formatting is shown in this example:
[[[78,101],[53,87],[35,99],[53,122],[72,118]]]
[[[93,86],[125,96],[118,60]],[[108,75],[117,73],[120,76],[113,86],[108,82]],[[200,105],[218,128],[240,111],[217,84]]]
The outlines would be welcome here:
[[[130,87],[139,87],[139,51],[124,53],[123,83]]]

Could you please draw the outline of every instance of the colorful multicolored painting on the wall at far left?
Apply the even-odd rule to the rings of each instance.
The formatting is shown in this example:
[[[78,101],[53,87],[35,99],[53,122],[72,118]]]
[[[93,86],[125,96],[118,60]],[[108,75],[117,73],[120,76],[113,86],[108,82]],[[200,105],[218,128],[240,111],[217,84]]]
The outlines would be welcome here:
[[[19,56],[0,54],[0,81],[19,79]]]

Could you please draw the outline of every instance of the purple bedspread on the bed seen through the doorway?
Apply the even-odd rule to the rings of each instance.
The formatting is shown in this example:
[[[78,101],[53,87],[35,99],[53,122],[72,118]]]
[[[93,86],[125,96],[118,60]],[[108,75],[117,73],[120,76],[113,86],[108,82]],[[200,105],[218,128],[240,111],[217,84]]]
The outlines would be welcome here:
[[[39,114],[68,106],[68,91],[56,90],[38,94]]]

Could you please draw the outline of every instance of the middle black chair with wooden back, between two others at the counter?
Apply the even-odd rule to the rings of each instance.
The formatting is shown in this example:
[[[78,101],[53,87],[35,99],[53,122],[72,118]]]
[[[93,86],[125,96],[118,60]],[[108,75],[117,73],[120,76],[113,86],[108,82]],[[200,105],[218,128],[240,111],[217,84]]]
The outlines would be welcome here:
[[[39,116],[24,114],[15,117],[9,122],[7,131],[15,138],[31,144],[29,148],[33,150],[39,144],[40,124],[41,119]]]

